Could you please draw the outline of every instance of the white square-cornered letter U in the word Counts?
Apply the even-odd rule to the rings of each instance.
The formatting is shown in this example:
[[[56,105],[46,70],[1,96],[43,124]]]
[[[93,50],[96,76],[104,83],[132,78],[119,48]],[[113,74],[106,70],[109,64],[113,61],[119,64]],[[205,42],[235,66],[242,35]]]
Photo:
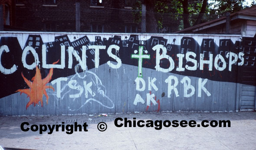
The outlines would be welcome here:
[[[46,46],[42,46],[43,68],[65,68],[65,46],[61,46],[60,65],[46,64]]]

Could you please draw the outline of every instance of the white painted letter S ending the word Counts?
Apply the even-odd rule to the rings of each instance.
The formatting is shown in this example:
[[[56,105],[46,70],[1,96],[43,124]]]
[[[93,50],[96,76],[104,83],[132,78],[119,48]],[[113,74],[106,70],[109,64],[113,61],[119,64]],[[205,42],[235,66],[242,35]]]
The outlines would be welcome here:
[[[112,49],[115,49],[115,55],[112,54]],[[111,45],[108,47],[108,55],[112,58],[115,59],[117,61],[117,64],[113,64],[112,62],[108,61],[107,64],[109,65],[109,67],[114,68],[114,69],[118,69],[121,67],[122,62],[121,59],[116,55],[116,53],[119,51],[120,47],[117,45]]]

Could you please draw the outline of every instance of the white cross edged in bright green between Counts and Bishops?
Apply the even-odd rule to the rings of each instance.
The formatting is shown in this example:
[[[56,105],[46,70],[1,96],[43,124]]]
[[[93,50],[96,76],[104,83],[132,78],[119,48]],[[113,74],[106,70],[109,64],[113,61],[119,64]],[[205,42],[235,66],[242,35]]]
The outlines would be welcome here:
[[[143,49],[144,49],[144,46],[139,46],[139,54],[135,55],[135,54],[132,54],[131,55],[131,58],[132,59],[138,59],[138,77],[141,77],[142,78],[142,60],[143,59],[150,59],[150,55],[143,55]]]

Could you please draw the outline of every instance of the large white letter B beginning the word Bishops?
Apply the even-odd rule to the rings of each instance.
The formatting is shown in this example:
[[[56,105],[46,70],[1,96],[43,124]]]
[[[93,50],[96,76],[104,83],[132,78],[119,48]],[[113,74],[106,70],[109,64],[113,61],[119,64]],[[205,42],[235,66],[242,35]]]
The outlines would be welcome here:
[[[161,72],[171,72],[174,69],[174,61],[169,55],[166,54],[167,53],[166,48],[163,45],[158,44],[158,45],[154,46],[152,49],[154,51],[157,50],[156,51],[156,66],[155,66],[156,70],[161,71]],[[162,49],[162,51],[163,51],[162,55],[160,55],[160,49]],[[167,69],[161,68],[160,67],[161,59],[168,59],[170,62],[170,67]]]

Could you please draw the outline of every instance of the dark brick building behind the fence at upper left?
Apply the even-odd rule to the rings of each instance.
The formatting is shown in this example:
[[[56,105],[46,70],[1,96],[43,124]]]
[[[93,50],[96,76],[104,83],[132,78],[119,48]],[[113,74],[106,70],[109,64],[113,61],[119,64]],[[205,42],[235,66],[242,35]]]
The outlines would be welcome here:
[[[4,30],[75,32],[75,3],[80,3],[80,32],[140,33],[140,11],[132,10],[136,0],[0,0],[3,16],[9,8],[10,21]],[[167,15],[166,15],[167,16]],[[156,15],[156,18],[158,16]],[[6,24],[4,18],[4,24]],[[138,18],[138,16],[137,16]],[[163,19],[159,32],[171,33],[174,20]],[[177,24],[177,23],[176,23]]]

